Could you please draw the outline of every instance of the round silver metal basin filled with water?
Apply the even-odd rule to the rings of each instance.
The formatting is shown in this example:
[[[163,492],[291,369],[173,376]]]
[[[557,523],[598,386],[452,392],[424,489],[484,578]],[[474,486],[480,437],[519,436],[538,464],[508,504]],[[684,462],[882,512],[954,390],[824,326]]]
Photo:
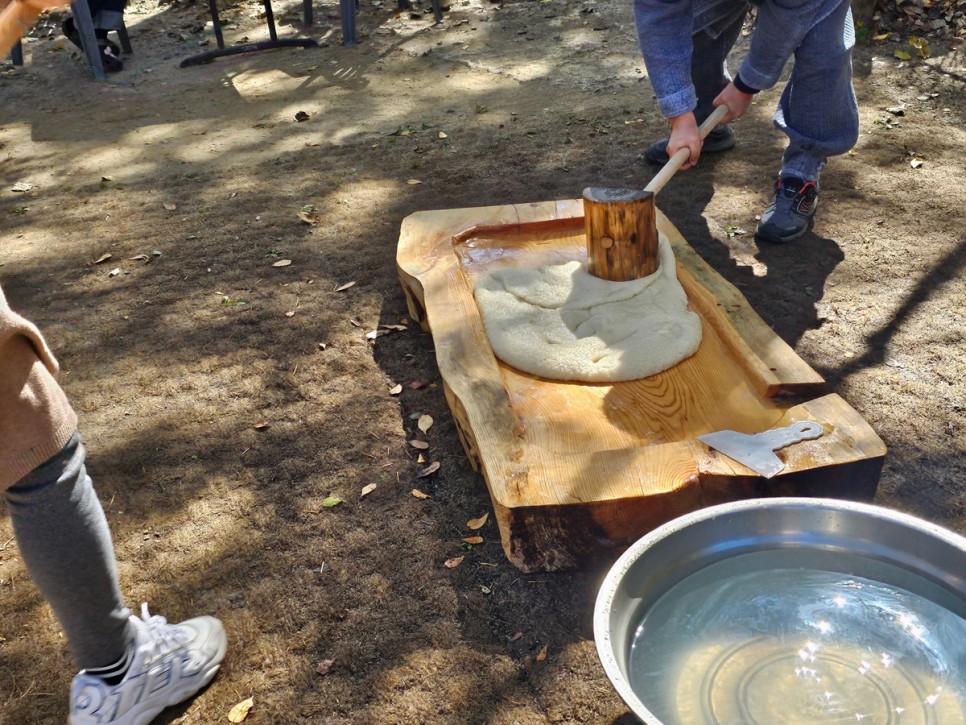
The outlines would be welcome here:
[[[706,508],[621,556],[594,636],[646,723],[966,723],[966,538],[830,499]]]

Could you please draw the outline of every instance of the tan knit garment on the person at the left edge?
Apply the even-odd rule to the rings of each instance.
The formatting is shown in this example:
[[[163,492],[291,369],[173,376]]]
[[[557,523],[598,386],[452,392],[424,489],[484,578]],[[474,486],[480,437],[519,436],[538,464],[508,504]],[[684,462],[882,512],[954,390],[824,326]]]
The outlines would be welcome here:
[[[59,453],[77,429],[57,369],[40,330],[0,289],[0,491]]]

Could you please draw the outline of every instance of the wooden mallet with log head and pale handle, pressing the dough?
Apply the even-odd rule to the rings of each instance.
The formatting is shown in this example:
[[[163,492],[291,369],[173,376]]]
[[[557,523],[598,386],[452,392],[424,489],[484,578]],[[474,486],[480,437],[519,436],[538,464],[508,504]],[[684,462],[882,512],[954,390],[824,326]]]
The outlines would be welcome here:
[[[704,139],[728,112],[718,106],[699,129]],[[595,277],[613,282],[640,279],[657,271],[657,209],[654,195],[688,160],[678,149],[644,189],[584,189],[587,264]]]

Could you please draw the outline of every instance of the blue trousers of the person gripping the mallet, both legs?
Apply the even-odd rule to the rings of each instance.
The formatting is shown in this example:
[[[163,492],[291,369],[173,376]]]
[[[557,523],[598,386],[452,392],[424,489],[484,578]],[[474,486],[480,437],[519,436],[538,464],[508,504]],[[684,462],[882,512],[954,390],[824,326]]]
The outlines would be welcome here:
[[[698,96],[700,123],[714,110],[712,101],[731,81],[728,53],[741,32],[748,6],[693,36],[691,78]],[[795,51],[791,77],[782,91],[774,124],[788,136],[782,178],[818,181],[829,156],[843,154],[859,137],[859,108],[852,87],[852,10],[842,3],[812,28]]]

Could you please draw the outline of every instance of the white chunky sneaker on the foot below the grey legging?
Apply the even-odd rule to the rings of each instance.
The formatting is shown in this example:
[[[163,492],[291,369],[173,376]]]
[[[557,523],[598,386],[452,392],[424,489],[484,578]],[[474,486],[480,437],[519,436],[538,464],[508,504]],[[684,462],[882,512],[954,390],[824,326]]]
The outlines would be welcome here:
[[[131,616],[135,635],[130,669],[117,685],[82,670],[70,688],[68,725],[147,725],[211,682],[225,658],[225,628],[214,617],[168,624],[148,614]]]

